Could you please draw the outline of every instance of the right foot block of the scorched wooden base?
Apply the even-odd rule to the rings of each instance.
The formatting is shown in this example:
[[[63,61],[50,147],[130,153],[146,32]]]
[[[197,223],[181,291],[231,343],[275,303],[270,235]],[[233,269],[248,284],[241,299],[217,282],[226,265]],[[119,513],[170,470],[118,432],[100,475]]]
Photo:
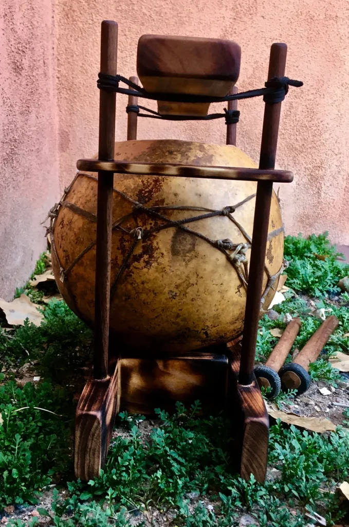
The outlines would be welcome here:
[[[269,440],[268,414],[256,378],[248,386],[238,384],[240,345],[228,349],[231,352],[231,369],[227,411],[236,426],[237,470],[245,480],[253,474],[257,481],[264,482]]]

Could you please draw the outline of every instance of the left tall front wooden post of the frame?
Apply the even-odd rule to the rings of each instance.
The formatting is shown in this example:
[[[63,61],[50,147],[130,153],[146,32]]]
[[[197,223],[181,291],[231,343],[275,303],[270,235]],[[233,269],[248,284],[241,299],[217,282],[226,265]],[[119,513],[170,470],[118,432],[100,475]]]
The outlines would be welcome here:
[[[101,73],[116,75],[117,23],[102,22]],[[98,158],[114,159],[115,143],[115,93],[100,90],[99,93],[99,143]],[[93,376],[107,377],[109,302],[111,284],[112,221],[113,221],[112,172],[98,172],[97,233],[96,233],[96,296],[95,296],[95,346]]]

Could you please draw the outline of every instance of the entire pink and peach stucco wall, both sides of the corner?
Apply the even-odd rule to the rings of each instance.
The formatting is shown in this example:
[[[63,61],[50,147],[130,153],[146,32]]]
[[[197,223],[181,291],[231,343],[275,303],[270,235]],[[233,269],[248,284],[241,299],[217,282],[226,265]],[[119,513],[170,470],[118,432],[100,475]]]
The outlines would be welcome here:
[[[282,111],[277,165],[295,174],[280,190],[286,230],[329,230],[333,241],[349,244],[346,0],[4,0],[0,10],[0,295],[24,282],[44,246],[39,222],[58,196],[58,180],[62,191],[76,159],[97,151],[106,18],[119,23],[118,70],[125,76],[135,74],[144,33],[229,38],[242,47],[238,86],[246,90],[263,86],[270,45],[286,42],[286,74],[304,81]],[[117,96],[117,140],[126,138],[126,103]],[[263,103],[239,106],[237,145],[258,160]],[[225,126],[139,120],[138,138],[222,143]]]

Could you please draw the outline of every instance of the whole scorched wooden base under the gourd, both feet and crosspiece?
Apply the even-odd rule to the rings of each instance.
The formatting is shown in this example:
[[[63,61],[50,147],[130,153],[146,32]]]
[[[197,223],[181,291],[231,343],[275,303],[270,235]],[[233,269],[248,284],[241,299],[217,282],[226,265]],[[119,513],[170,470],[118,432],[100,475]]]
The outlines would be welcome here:
[[[268,415],[256,379],[249,386],[238,384],[240,350],[237,344],[186,356],[144,358],[124,354],[109,363],[108,379],[89,379],[79,399],[75,476],[88,481],[99,475],[117,412],[152,415],[158,407],[173,412],[177,401],[189,406],[198,399],[203,413],[214,414],[226,406],[233,424],[236,470],[245,480],[254,474],[263,482]]]

